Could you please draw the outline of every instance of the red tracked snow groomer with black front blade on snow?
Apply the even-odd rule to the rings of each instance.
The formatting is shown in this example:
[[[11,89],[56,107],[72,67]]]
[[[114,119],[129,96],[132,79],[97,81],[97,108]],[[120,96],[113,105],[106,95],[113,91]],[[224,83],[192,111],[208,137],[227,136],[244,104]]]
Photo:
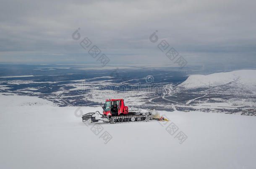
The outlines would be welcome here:
[[[82,116],[83,121],[103,121],[110,123],[122,123],[128,121],[149,121],[152,120],[151,110],[142,111],[138,108],[128,108],[122,99],[108,99],[104,103],[103,114],[99,111],[87,113]]]

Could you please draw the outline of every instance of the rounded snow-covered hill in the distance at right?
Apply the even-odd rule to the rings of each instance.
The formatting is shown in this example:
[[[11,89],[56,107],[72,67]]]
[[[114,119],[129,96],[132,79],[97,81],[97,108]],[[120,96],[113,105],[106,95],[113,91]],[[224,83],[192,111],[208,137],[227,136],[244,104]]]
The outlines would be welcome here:
[[[225,73],[213,73],[209,75],[191,75],[181,83],[184,88],[208,88],[235,83],[235,86],[246,87],[251,90],[256,88],[256,70],[240,70]]]

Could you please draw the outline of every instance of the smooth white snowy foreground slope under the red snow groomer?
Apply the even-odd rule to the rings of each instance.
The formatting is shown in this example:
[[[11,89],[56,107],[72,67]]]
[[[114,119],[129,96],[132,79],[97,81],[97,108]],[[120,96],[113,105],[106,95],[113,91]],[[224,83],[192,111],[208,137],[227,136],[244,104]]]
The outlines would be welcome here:
[[[256,166],[256,117],[162,111],[169,122],[81,121],[80,113],[96,110],[101,108],[57,107],[39,98],[0,95],[0,168],[254,169]],[[177,131],[177,128],[170,130],[174,124]],[[180,131],[186,139],[177,136]]]

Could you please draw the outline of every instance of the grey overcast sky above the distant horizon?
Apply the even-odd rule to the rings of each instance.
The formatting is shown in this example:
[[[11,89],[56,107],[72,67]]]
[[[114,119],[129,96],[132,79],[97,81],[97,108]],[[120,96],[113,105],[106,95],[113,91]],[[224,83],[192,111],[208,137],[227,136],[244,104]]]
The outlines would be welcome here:
[[[100,65],[105,54],[112,65],[175,64],[165,55],[174,48],[188,64],[255,65],[255,7],[255,0],[1,0],[0,63]],[[88,53],[94,45],[96,58]]]

